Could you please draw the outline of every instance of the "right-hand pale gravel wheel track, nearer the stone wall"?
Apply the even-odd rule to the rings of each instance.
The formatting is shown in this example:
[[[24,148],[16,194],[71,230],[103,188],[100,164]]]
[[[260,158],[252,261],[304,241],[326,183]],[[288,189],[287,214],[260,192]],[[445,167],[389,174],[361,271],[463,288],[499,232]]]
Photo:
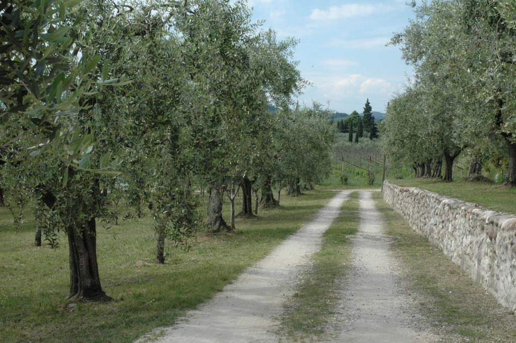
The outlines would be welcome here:
[[[360,193],[360,230],[353,238],[352,267],[343,287],[344,323],[335,342],[434,342],[416,326],[421,323],[413,299],[382,232],[382,218],[371,192]]]

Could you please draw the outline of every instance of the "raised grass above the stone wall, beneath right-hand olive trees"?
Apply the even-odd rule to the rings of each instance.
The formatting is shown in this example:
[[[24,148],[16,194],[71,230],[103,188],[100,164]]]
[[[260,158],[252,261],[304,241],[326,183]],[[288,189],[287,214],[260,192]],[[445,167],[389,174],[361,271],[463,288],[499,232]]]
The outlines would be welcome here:
[[[422,178],[391,179],[390,181],[399,186],[418,187],[448,197],[476,203],[495,211],[516,214],[516,188],[507,188],[490,183],[444,182]]]

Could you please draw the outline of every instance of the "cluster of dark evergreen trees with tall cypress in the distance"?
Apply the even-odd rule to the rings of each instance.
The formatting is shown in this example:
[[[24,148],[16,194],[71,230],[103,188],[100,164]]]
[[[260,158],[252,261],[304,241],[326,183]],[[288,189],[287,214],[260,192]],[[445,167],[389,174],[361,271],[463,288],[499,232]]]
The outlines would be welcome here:
[[[337,121],[337,130],[343,134],[347,133],[348,140],[355,143],[358,143],[359,138],[364,137],[364,134],[369,139],[378,138],[378,126],[375,122],[373,107],[369,103],[369,99],[365,102],[362,116],[357,111],[351,112],[346,119]]]

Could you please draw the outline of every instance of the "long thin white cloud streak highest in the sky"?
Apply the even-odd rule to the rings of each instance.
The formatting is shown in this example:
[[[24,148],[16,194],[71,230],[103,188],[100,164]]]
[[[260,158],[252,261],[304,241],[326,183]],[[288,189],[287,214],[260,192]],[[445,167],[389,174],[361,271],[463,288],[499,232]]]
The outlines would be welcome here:
[[[344,4],[341,6],[332,6],[327,10],[315,8],[310,14],[310,19],[321,22],[352,17],[364,17],[375,13],[388,12],[392,9],[392,6],[383,4]]]

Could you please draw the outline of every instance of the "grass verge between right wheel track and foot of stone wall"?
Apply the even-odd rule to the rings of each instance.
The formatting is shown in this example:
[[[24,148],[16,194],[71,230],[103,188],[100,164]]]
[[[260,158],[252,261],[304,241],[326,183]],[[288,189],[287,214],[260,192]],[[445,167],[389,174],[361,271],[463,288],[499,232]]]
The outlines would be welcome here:
[[[428,240],[412,231],[375,193],[386,233],[393,237],[393,251],[405,270],[409,287],[419,300],[427,323],[446,341],[514,342],[516,316],[498,305],[480,285],[453,264]]]

